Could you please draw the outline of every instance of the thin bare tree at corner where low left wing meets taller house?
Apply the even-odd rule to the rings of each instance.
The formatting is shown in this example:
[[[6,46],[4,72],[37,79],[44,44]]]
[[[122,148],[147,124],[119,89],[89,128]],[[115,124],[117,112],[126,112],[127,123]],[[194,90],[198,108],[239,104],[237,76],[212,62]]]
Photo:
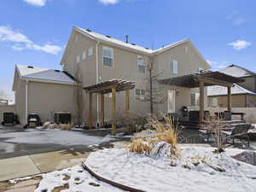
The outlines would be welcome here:
[[[76,67],[76,72],[74,75],[75,80],[77,81],[76,86],[74,88],[74,99],[76,105],[76,114],[77,114],[77,122],[78,125],[82,125],[82,117],[84,112],[84,91],[82,84],[82,74],[80,67]]]

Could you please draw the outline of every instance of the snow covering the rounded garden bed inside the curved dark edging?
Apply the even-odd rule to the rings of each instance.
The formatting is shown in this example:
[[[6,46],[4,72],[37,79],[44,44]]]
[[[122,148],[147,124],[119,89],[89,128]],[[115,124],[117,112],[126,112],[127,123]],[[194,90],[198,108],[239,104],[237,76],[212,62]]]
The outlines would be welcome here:
[[[165,153],[153,157],[112,148],[90,154],[85,164],[102,177],[145,191],[256,191],[256,179],[251,178],[256,177],[256,166],[230,157],[241,149],[230,148],[223,154],[212,154],[212,150],[183,147],[182,158],[174,163],[177,166],[171,166]]]

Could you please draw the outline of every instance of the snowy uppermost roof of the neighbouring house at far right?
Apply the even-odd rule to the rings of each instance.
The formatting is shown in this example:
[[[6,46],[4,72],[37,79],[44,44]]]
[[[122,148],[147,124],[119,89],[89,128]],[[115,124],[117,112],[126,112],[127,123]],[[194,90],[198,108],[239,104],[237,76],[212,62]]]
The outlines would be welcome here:
[[[249,77],[256,75],[256,73],[237,65],[230,65],[228,67],[224,67],[224,69],[220,70],[222,73],[230,74],[234,77],[241,78],[241,77]]]

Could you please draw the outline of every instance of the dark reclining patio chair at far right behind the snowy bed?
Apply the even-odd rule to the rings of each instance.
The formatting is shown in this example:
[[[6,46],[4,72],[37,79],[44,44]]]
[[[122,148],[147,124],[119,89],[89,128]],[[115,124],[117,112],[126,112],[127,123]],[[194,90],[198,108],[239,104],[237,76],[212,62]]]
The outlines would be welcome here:
[[[236,127],[231,131],[221,131],[221,133],[224,134],[226,142],[228,139],[232,139],[232,144],[235,144],[235,139],[239,139],[241,141],[247,141],[247,145],[250,147],[250,138],[247,131],[251,126],[251,124],[236,125]]]

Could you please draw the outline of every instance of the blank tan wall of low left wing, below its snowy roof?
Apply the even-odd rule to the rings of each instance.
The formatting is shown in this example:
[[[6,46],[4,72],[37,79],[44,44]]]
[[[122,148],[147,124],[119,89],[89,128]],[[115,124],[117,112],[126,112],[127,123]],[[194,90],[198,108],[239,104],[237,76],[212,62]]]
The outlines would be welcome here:
[[[50,111],[75,114],[73,85],[28,82],[28,114],[38,113],[43,122],[53,121]]]

